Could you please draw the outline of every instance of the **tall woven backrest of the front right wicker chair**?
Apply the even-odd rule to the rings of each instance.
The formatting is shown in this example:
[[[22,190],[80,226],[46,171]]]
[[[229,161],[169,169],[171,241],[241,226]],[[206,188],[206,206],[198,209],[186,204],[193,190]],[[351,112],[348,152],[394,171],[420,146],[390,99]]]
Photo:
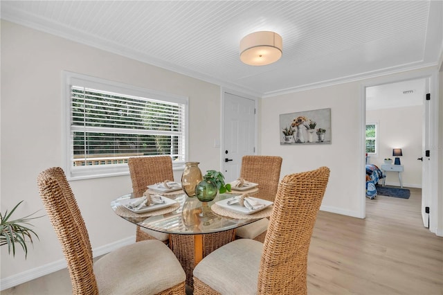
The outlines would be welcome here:
[[[264,239],[258,294],[307,294],[307,255],[329,168],[283,177]],[[290,279],[288,279],[290,278]]]

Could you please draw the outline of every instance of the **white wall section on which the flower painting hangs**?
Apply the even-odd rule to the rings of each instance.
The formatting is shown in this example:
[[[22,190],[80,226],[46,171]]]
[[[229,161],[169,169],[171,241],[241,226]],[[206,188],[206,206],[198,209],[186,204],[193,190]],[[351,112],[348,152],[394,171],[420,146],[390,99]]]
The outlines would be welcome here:
[[[261,153],[283,158],[280,177],[329,167],[322,209],[351,216],[360,215],[364,193],[360,181],[364,166],[356,165],[363,153],[358,139],[362,124],[360,95],[361,84],[353,82],[264,98],[260,108]],[[325,108],[331,108],[332,144],[280,145],[280,114]]]

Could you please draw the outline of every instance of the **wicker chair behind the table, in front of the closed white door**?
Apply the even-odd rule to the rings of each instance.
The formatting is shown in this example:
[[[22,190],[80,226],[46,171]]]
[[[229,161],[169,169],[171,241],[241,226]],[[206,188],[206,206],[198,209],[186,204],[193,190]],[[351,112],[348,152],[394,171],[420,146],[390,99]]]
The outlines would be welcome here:
[[[247,181],[258,184],[258,193],[254,197],[260,197],[273,202],[277,193],[278,181],[282,158],[275,156],[244,156],[240,177]],[[253,239],[264,242],[269,220],[263,218],[257,222],[241,226],[235,230],[236,238]]]

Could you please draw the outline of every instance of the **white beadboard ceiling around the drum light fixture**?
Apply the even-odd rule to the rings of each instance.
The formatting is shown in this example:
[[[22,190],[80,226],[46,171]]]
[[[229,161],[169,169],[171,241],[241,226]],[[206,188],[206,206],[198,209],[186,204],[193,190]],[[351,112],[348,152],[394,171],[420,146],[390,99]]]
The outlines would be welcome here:
[[[437,66],[443,1],[1,1],[1,18],[268,97]],[[267,66],[239,60],[248,33],[283,38]]]

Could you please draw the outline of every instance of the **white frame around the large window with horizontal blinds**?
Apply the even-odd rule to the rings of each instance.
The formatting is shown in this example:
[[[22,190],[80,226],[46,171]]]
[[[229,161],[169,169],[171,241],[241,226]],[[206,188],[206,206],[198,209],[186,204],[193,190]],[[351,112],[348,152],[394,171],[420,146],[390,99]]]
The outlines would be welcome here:
[[[115,82],[111,80],[105,80],[102,78],[91,77],[89,75],[83,75],[79,73],[72,73],[69,71],[62,72],[62,106],[64,109],[64,170],[66,177],[69,180],[77,179],[93,179],[98,177],[113,177],[118,175],[129,175],[129,168],[127,163],[118,164],[104,164],[104,165],[92,165],[92,166],[73,166],[73,139],[71,128],[71,85],[87,87],[92,89],[99,89],[100,91],[109,91],[113,93],[121,93],[127,96],[136,96],[141,98],[150,98],[153,100],[160,100],[163,102],[173,102],[183,105],[184,109],[184,160],[172,161],[172,168],[174,170],[183,169],[188,159],[188,120],[189,120],[189,98],[187,96],[178,96],[171,93],[165,93],[162,91],[155,91],[152,89],[145,89],[143,87],[136,87],[129,84]],[[149,156],[147,156],[149,157]]]

